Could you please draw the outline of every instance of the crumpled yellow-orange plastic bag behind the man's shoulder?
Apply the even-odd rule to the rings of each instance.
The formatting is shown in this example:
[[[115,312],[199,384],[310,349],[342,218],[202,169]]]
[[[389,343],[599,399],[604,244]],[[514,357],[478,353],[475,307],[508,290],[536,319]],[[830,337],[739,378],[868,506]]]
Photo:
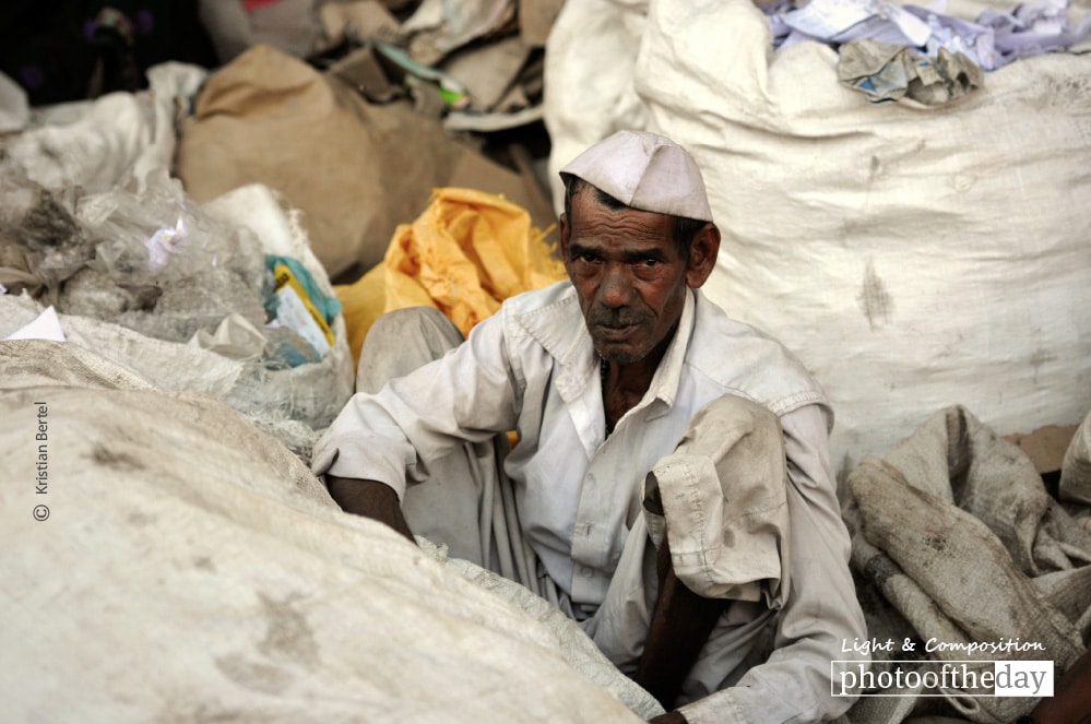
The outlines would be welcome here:
[[[470,334],[508,297],[565,276],[525,210],[496,194],[441,188],[413,224],[398,227],[381,264],[335,292],[358,363],[368,329],[388,311],[436,307]]]

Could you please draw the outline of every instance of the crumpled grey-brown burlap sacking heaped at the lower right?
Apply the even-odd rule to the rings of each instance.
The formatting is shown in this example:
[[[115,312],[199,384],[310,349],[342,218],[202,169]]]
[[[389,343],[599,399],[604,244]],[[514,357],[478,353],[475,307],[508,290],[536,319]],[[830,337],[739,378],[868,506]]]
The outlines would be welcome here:
[[[1059,675],[1086,650],[1091,602],[1091,535],[1051,503],[1033,464],[962,407],[941,411],[885,459],[847,479],[844,517],[852,566],[909,625],[870,633],[910,636],[936,661],[1048,660]],[[882,602],[871,602],[869,622]],[[1044,650],[936,649],[1021,641]],[[881,657],[880,657],[881,658]],[[945,690],[952,713],[1000,724],[1029,712],[1033,698]],[[921,700],[922,703],[934,703]],[[862,703],[859,707],[875,707]],[[926,713],[917,711],[916,713]],[[901,714],[904,716],[904,712]],[[866,721],[854,716],[850,721]],[[897,722],[900,719],[871,720]]]

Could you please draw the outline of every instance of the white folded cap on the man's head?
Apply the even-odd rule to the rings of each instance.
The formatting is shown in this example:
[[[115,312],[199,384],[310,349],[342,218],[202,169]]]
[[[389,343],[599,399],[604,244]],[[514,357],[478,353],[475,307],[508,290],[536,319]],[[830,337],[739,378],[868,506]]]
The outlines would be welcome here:
[[[712,221],[697,162],[671,139],[647,131],[618,131],[560,169],[632,209]]]

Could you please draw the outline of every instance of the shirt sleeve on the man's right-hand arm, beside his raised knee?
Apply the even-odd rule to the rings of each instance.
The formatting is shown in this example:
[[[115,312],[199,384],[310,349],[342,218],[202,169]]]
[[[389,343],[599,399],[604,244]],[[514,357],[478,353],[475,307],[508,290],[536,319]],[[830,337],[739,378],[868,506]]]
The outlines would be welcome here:
[[[841,520],[829,459],[828,419],[808,405],[781,417],[787,458],[791,592],[774,651],[735,686],[680,708],[702,722],[821,722],[844,713],[858,688],[842,687],[842,652],[866,637],[849,570],[851,542]]]

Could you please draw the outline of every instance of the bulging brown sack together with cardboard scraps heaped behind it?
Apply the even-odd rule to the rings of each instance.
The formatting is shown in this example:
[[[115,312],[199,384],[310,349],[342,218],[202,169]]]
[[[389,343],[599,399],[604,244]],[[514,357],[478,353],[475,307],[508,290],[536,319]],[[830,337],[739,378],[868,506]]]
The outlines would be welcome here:
[[[490,133],[541,120],[558,1],[202,4],[225,64],[179,147],[178,176],[198,201],[252,182],[277,189],[345,282],[381,261],[437,187],[500,193],[535,226],[553,223],[539,152]]]

